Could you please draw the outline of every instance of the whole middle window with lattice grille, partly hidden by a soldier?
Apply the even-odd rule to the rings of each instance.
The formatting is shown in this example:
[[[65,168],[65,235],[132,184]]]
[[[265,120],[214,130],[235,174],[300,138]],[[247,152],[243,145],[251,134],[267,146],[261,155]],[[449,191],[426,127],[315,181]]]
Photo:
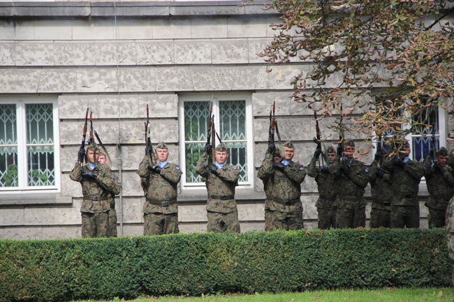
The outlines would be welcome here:
[[[207,117],[213,103],[214,125],[227,145],[228,163],[240,169],[240,186],[252,186],[254,179],[252,154],[251,96],[238,94],[184,95],[180,98],[180,165],[184,171],[182,186],[205,186],[196,174],[196,163],[207,142]],[[184,138],[184,139],[183,139]],[[219,139],[216,139],[219,144]]]

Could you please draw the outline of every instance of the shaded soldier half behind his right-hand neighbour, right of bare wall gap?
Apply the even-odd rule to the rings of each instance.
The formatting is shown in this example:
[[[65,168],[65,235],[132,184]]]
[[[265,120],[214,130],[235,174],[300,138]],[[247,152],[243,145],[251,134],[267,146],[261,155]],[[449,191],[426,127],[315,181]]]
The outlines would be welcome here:
[[[318,228],[329,229],[336,227],[336,185],[334,176],[328,169],[328,163],[322,167],[316,167],[318,157],[321,155],[321,149],[316,149],[311,163],[307,167],[307,175],[313,177],[317,183],[318,199],[315,203],[318,213]],[[330,164],[334,163],[336,151],[332,146],[326,149],[326,156]]]

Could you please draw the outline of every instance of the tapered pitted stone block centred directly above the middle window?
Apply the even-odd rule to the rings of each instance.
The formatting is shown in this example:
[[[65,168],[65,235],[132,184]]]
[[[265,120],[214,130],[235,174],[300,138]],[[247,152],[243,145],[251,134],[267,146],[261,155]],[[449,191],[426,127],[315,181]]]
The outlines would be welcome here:
[[[235,66],[189,66],[196,91],[231,90],[235,80]]]

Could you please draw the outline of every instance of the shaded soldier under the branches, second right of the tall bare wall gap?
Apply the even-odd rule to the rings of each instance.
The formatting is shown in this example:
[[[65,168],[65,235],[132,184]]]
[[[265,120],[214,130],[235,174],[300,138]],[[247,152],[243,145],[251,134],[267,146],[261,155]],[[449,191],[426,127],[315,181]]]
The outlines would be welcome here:
[[[336,224],[339,228],[365,227],[366,201],[365,188],[369,181],[369,169],[364,163],[354,158],[355,142],[344,141],[337,147],[334,163],[328,167],[335,176],[336,183]]]

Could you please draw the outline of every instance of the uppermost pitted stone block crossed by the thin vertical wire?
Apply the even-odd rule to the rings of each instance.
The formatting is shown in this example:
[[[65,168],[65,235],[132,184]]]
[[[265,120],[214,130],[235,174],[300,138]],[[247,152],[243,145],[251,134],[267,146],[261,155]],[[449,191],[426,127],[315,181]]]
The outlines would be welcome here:
[[[135,41],[95,41],[95,65],[136,65]],[[86,65],[86,64],[85,64]]]

